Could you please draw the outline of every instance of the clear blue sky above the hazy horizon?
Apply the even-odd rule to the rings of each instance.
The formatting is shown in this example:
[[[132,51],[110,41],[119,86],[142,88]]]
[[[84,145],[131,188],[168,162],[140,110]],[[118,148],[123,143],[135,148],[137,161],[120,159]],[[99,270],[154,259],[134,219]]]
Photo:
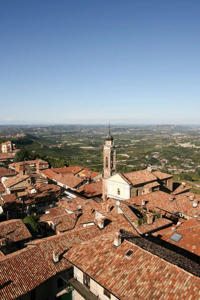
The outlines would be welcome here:
[[[200,123],[199,11],[0,0],[0,123]]]

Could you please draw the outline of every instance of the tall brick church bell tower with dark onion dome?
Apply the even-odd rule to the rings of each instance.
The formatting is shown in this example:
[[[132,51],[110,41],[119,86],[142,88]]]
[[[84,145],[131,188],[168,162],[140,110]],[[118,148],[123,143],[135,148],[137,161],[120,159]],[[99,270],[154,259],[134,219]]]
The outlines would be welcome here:
[[[103,190],[102,198],[105,201],[107,198],[107,178],[115,173],[116,150],[113,142],[113,136],[110,134],[108,127],[108,135],[105,138],[103,145]]]

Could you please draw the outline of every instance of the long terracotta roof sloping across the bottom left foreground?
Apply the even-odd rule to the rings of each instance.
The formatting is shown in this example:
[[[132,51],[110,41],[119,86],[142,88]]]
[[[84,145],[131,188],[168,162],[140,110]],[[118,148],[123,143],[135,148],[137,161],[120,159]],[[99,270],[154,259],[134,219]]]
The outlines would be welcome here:
[[[72,230],[47,238],[27,243],[27,247],[15,253],[0,257],[0,299],[14,300],[34,289],[56,273],[71,267],[71,264],[62,258],[64,251],[74,244],[87,241],[95,236],[108,233],[130,224],[122,215],[117,215],[105,228],[99,230],[96,226]],[[52,251],[59,252],[59,263],[52,261]],[[9,270],[9,271],[7,271]]]

